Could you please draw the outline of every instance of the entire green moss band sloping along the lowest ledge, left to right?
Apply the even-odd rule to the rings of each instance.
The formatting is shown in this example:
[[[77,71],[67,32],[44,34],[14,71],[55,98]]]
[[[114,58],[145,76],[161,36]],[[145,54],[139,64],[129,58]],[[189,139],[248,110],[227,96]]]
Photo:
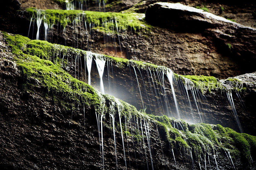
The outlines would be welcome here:
[[[251,157],[255,158],[256,137],[254,136],[240,134],[220,125],[189,124],[184,120],[139,112],[128,103],[113,96],[103,95],[92,86],[73,78],[61,69],[59,64],[47,60],[51,53],[42,53],[43,49],[40,48],[39,51],[33,53],[33,48],[31,46],[29,48],[29,45],[33,47],[38,43],[45,43],[48,44],[45,46],[46,49],[50,49],[54,47],[53,44],[46,41],[31,41],[21,36],[14,37],[7,33],[3,34],[15,56],[13,62],[17,64],[22,73],[23,91],[33,92],[35,89],[39,89],[44,93],[45,98],[48,95],[54,96],[55,102],[61,103],[63,108],[67,110],[76,110],[80,105],[92,108],[98,114],[109,114],[110,107],[114,107],[116,111],[119,108],[122,117],[133,117],[140,119],[140,121],[152,123],[164,134],[164,137],[162,136],[163,141],[176,149],[190,149],[197,156],[202,152],[214,154],[227,151],[231,153],[232,157],[241,158],[245,164],[251,162]],[[115,58],[112,59],[115,60]],[[135,141],[140,138],[140,134],[134,133],[129,137]]]

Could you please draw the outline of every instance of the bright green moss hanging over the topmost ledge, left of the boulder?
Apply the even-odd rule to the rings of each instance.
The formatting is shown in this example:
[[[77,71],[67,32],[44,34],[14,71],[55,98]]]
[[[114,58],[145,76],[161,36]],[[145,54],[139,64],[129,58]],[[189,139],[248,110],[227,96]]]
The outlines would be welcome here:
[[[26,9],[28,17],[41,15],[43,21],[48,24],[57,25],[60,23],[62,27],[72,24],[74,20],[80,22],[84,19],[87,23],[94,23],[94,28],[100,31],[114,31],[116,29],[115,20],[118,29],[127,30],[148,30],[151,26],[144,21],[138,19],[141,14],[138,13],[117,13],[117,12],[97,12],[97,11],[80,11],[80,10],[37,10],[35,8]],[[111,20],[111,22],[109,22]],[[113,20],[113,22],[112,22]],[[102,27],[102,23],[107,21],[106,26]]]

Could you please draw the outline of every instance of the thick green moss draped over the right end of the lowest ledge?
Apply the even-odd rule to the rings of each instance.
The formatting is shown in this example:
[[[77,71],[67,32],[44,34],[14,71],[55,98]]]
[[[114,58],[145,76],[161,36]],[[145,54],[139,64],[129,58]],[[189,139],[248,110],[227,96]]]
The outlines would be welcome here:
[[[237,133],[220,124],[188,124],[183,120],[175,120],[167,116],[149,115],[149,117],[157,121],[158,128],[166,132],[166,139],[173,146],[178,144],[179,147],[193,148],[197,152],[209,151],[209,147],[220,152],[222,148],[234,156],[241,156],[246,161],[250,161],[250,156],[255,155],[256,137],[254,136]],[[175,129],[173,124],[176,124],[179,130]]]

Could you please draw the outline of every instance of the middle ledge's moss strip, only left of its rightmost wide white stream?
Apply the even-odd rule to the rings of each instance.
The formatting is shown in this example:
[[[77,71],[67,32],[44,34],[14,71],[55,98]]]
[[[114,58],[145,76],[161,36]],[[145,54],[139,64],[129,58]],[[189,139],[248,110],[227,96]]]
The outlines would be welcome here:
[[[36,55],[41,59],[52,60],[55,57],[59,57],[65,55],[80,55],[85,57],[87,54],[86,51],[75,49],[72,47],[67,47],[63,45],[52,44],[47,41],[41,40],[30,40],[27,37],[23,37],[21,35],[10,35],[8,33],[3,33],[6,38],[5,41],[8,42],[9,46],[12,48],[12,51],[15,53],[25,53],[28,55]],[[97,55],[94,54],[93,55]],[[134,67],[138,67],[140,69],[159,69],[159,70],[167,70],[166,67],[157,66],[151,63],[144,63],[141,61],[128,60],[124,58],[112,57],[108,55],[97,55],[98,57],[102,57],[105,60],[115,62],[119,67],[124,67],[125,65],[130,65]],[[62,58],[61,58],[62,60]],[[52,60],[53,61],[53,60]],[[56,62],[56,61],[54,61]],[[59,63],[59,62],[58,62]]]

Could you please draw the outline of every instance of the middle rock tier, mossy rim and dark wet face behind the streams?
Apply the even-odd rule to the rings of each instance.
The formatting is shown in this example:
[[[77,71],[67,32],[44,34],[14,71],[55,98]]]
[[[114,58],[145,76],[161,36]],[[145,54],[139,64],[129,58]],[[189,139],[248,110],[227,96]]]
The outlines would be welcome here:
[[[88,72],[85,66],[86,51],[45,43],[45,41],[31,41],[26,37],[17,35],[7,37],[6,41],[8,41],[9,45],[14,45],[14,49],[16,49],[16,43],[22,42],[24,43],[24,48],[22,48],[23,45],[19,45],[18,49],[22,49],[24,53],[30,55],[40,54],[41,58],[51,56],[48,58],[49,60],[54,63],[59,61],[57,63],[74,78],[88,82]],[[179,118],[173,100],[171,85],[166,76],[168,68],[106,55],[92,55],[95,59],[100,57],[106,60],[103,84],[107,94],[114,95],[132,104],[138,110],[147,108],[147,113]],[[94,60],[92,61],[91,77],[93,87],[100,90],[100,77]],[[204,95],[200,90],[195,92],[188,90],[187,94],[182,80],[181,78],[176,78],[177,82],[173,83],[180,110],[180,118],[188,122],[221,124],[224,127],[239,131],[232,111],[233,108],[227,99],[228,93],[225,89],[212,89],[211,92],[204,91]],[[218,79],[205,77],[201,81],[215,85]],[[246,88],[246,84],[244,88],[242,91],[242,88],[238,89],[240,92],[232,91],[233,100],[244,132],[255,134],[254,123],[256,120],[254,116],[255,105],[253,103],[256,96],[253,95],[254,93],[249,88]],[[195,93],[194,96],[193,93]],[[192,111],[187,96],[191,101]],[[244,104],[241,104],[241,102],[244,102]]]

